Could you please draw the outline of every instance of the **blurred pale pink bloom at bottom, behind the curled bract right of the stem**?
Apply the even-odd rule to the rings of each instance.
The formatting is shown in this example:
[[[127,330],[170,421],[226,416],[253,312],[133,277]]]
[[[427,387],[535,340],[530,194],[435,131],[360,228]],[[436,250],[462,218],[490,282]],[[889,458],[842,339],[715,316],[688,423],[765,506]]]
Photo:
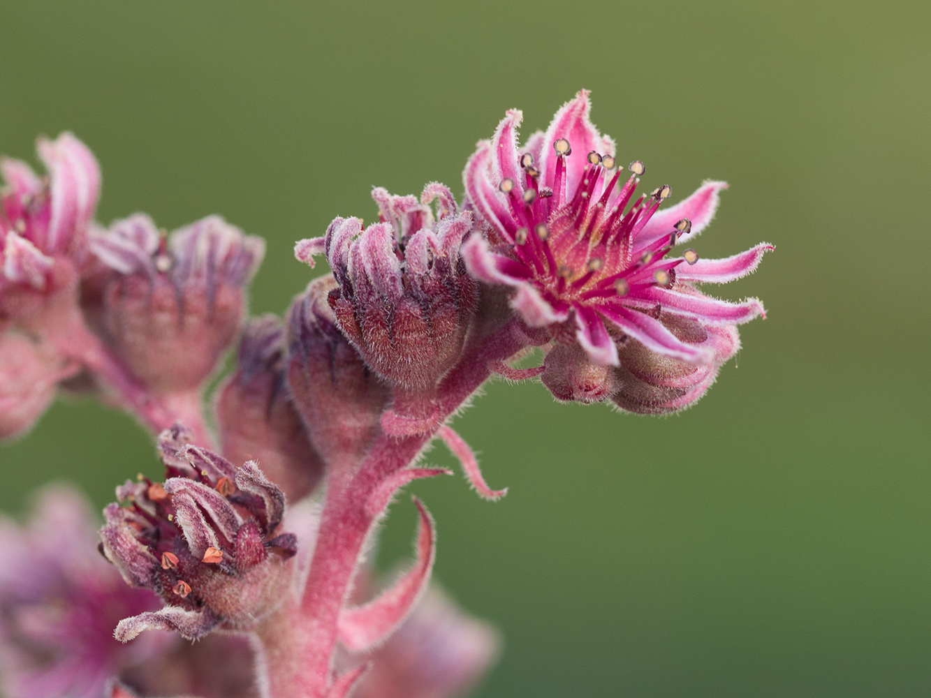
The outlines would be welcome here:
[[[491,625],[431,586],[411,616],[374,651],[356,698],[455,698],[479,682],[500,651]]]

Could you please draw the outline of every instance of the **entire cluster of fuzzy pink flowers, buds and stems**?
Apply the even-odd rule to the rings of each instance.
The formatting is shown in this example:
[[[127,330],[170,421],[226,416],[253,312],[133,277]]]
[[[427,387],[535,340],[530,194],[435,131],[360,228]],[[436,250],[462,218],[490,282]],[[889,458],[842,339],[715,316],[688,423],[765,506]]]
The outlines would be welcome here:
[[[726,185],[662,208],[669,187],[638,195],[643,163],[624,174],[589,111],[583,90],[522,146],[507,112],[461,203],[439,182],[375,188],[378,221],[338,217],[296,244],[331,273],[283,318],[247,319],[261,238],[218,216],[171,235],[143,214],[102,227],[97,163],[70,134],[40,141],[45,179],[3,161],[0,437],[66,384],[135,415],[165,468],[116,488],[102,557],[74,495],[47,494],[25,529],[0,523],[8,695],[452,698],[479,680],[500,643],[431,583],[424,503],[408,569],[376,594],[365,564],[398,491],[450,474],[425,450],[441,440],[498,500],[450,424],[493,375],[674,412],[763,315],[700,285],[748,275],[772,246],[679,251]],[[515,366],[534,350],[539,366]]]

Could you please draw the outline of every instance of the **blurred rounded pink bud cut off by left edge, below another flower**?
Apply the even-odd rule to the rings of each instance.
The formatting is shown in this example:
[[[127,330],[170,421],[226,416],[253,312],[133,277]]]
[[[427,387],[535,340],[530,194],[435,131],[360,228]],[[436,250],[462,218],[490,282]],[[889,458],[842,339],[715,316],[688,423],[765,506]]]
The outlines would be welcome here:
[[[0,438],[31,429],[55,398],[59,381],[75,370],[45,343],[12,329],[0,334]]]

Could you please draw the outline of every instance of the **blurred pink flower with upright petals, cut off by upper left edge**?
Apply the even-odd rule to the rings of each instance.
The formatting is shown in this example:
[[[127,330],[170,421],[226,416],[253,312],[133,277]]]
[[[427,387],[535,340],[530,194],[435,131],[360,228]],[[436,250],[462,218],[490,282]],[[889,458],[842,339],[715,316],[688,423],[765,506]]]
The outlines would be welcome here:
[[[87,253],[88,223],[97,207],[101,173],[88,147],[70,133],[39,139],[48,169],[38,177],[26,163],[3,158],[0,172],[0,328],[41,324],[53,297],[74,302]]]

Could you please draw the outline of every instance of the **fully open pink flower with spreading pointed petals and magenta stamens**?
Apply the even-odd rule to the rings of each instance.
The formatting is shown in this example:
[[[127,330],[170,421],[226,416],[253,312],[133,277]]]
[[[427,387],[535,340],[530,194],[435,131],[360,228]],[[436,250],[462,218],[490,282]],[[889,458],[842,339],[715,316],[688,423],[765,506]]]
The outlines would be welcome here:
[[[507,112],[491,141],[480,141],[463,178],[466,195],[489,227],[463,247],[469,272],[514,289],[511,306],[557,342],[577,342],[590,360],[617,366],[618,341],[693,364],[714,361],[712,347],[683,342],[657,319],[663,312],[707,327],[733,326],[763,314],[762,303],[725,302],[696,293],[692,282],[724,283],[756,269],[761,244],[724,260],[694,249],[671,256],[711,221],[722,181],[707,181],[659,211],[663,185],[634,194],[645,168],[622,178],[614,141],[588,119],[588,93],[566,103],[546,131],[518,145],[522,114]],[[623,343],[623,342],[622,342]]]

